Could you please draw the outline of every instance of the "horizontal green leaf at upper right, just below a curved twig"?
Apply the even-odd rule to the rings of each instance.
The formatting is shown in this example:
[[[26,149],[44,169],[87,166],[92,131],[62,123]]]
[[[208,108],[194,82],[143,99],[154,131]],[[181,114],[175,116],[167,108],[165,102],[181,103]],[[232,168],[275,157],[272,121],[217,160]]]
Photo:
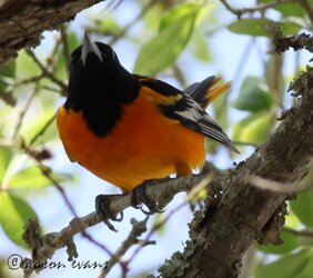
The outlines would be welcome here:
[[[229,24],[228,29],[234,33],[269,37],[265,30],[265,26],[269,23],[280,27],[284,36],[295,34],[302,28],[294,21],[275,22],[265,18],[245,18]]]

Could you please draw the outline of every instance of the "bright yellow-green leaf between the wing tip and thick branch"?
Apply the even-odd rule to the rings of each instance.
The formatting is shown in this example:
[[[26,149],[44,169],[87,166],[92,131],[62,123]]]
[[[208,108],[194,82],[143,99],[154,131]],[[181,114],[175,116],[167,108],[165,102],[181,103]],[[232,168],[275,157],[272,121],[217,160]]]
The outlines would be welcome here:
[[[240,135],[241,142],[261,143],[264,142],[271,130],[272,113],[264,113],[246,125]]]

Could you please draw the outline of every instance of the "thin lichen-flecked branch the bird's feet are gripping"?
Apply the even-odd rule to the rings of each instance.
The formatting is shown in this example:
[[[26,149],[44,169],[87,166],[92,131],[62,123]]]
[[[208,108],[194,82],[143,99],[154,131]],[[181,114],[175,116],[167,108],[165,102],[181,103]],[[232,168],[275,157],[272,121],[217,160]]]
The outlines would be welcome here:
[[[166,206],[166,203],[169,203],[176,193],[190,191],[192,188],[198,186],[203,179],[208,178],[208,172],[209,169],[206,165],[201,175],[182,177],[178,179],[166,179],[164,182],[161,183],[160,180],[151,181],[150,183],[147,183],[145,193],[149,198],[156,200],[160,207],[162,208]],[[213,178],[210,179],[209,186],[210,189],[213,191],[218,190],[218,187],[220,187],[220,171],[212,170],[212,167],[210,167],[210,176],[212,176]],[[155,190],[155,183],[158,183],[158,190]],[[110,209],[113,214],[119,214],[130,206],[131,197],[121,196],[110,203]],[[36,242],[31,240],[27,241],[30,247],[34,247],[32,250],[31,261],[46,261],[47,259],[50,259],[53,256],[55,250],[63,247],[67,247],[69,260],[71,260],[77,255],[75,246],[73,242],[74,236],[79,232],[83,232],[89,227],[100,224],[101,221],[102,219],[94,211],[84,217],[77,217],[72,219],[69,226],[60,231],[50,232],[40,237],[29,236],[29,234],[31,234],[33,230],[38,230],[37,222],[33,220],[29,221],[26,227],[23,238],[31,238],[36,240]],[[26,274],[30,275],[29,269],[26,270]]]

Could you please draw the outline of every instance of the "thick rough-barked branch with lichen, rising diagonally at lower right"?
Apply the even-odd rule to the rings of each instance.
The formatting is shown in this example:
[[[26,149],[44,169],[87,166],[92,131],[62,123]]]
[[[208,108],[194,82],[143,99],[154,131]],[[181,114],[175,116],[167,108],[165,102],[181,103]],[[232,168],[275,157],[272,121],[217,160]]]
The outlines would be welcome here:
[[[180,268],[162,267],[164,277],[238,276],[245,250],[271,226],[272,216],[289,196],[284,190],[262,190],[243,177],[258,176],[290,188],[307,172],[313,158],[313,69],[302,73],[292,89],[300,97],[296,106],[267,141],[223,180],[225,190],[218,208],[202,230],[191,232],[188,248],[178,256],[183,258]]]

